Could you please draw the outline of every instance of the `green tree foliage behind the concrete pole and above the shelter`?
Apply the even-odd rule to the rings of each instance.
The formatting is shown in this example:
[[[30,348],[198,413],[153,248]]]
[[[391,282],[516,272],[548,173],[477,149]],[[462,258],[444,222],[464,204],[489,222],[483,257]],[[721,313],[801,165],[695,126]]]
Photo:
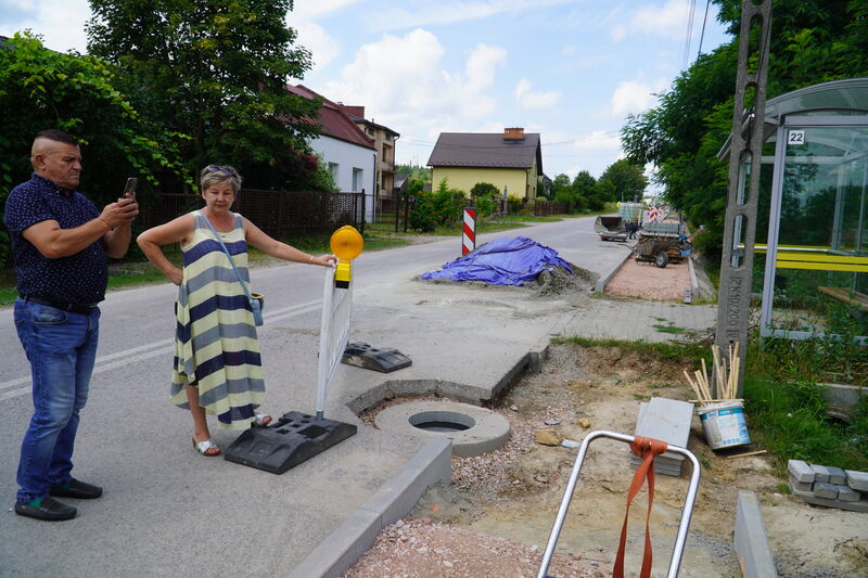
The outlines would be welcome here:
[[[720,22],[730,34],[738,34],[741,2],[714,2],[720,7]],[[627,158],[638,165],[653,163],[655,180],[665,185],[664,200],[682,209],[689,222],[706,224],[710,236],[703,244],[717,247],[728,182],[727,164],[716,155],[732,128],[737,61],[738,39],[697,59],[661,95],[658,106],[628,116],[621,131]],[[773,2],[768,98],[864,76],[868,76],[868,3]]]

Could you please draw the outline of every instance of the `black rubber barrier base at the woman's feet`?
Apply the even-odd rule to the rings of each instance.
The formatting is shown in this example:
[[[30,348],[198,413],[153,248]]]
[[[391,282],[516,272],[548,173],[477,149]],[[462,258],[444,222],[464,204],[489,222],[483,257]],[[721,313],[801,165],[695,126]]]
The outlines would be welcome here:
[[[251,427],[224,451],[230,462],[282,474],[354,436],[357,427],[291,411],[268,427]]]

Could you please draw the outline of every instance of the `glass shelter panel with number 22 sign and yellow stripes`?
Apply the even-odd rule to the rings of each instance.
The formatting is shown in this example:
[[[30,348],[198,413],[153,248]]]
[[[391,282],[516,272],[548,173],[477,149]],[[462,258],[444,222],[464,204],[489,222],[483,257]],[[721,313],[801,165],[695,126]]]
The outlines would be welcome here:
[[[774,260],[774,274],[764,275],[761,333],[866,341],[868,118],[837,117],[822,126],[817,117],[795,117],[784,125],[775,139],[781,166],[775,166],[773,194],[766,184],[761,198],[768,226],[757,223],[757,244],[762,251],[767,231],[768,253],[765,264],[762,257],[754,262],[767,269]]]

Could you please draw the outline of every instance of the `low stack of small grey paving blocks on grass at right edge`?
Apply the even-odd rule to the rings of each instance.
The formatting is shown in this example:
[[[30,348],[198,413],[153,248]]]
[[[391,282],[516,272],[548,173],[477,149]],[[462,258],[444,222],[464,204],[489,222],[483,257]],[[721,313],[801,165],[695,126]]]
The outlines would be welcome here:
[[[787,462],[790,490],[807,503],[868,512],[868,472],[807,464],[802,460]]]

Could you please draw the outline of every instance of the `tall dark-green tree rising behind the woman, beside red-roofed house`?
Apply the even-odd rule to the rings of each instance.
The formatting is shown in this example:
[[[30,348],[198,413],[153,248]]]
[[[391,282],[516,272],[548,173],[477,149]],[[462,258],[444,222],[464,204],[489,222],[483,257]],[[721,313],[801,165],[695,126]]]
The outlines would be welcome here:
[[[195,170],[231,163],[252,185],[309,168],[297,152],[320,103],[286,91],[310,68],[285,24],[292,0],[90,0],[88,50],[116,64],[133,102],[189,136]],[[251,182],[253,181],[253,182]]]

